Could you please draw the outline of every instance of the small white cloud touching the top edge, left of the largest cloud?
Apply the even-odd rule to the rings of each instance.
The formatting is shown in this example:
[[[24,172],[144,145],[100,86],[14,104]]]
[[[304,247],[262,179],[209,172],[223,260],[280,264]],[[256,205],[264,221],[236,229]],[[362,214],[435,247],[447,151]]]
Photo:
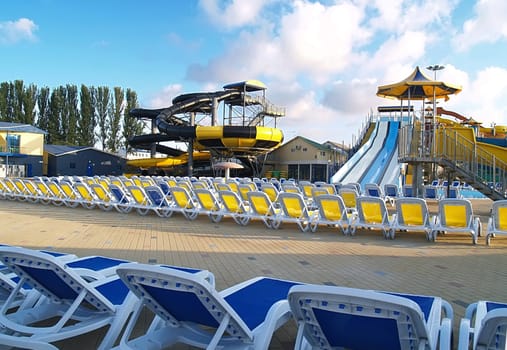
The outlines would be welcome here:
[[[267,0],[231,0],[226,5],[218,0],[201,0],[201,8],[213,23],[227,29],[242,27],[255,22]]]

